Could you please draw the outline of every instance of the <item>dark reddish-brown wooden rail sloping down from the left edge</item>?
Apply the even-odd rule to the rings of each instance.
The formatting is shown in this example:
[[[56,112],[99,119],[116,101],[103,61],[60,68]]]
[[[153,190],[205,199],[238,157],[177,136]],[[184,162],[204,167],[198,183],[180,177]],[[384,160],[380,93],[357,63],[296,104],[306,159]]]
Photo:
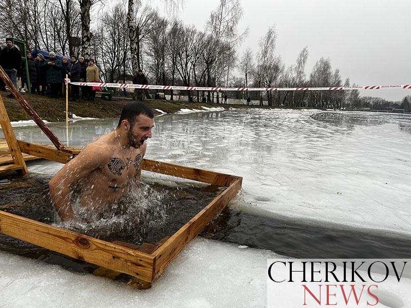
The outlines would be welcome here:
[[[50,130],[50,128],[43,122],[43,120],[39,117],[39,115],[34,111],[33,108],[26,102],[26,100],[22,97],[22,94],[17,91],[17,89],[14,87],[13,83],[11,82],[9,76],[5,73],[3,68],[0,66],[0,78],[3,79],[4,83],[7,85],[9,88],[10,92],[14,95],[16,100],[22,105],[23,109],[26,110],[27,114],[30,115],[31,119],[37,124],[41,130],[46,134],[46,136],[51,140],[51,142],[54,144],[54,146],[62,150],[64,149],[63,143],[55,136],[55,134]]]

